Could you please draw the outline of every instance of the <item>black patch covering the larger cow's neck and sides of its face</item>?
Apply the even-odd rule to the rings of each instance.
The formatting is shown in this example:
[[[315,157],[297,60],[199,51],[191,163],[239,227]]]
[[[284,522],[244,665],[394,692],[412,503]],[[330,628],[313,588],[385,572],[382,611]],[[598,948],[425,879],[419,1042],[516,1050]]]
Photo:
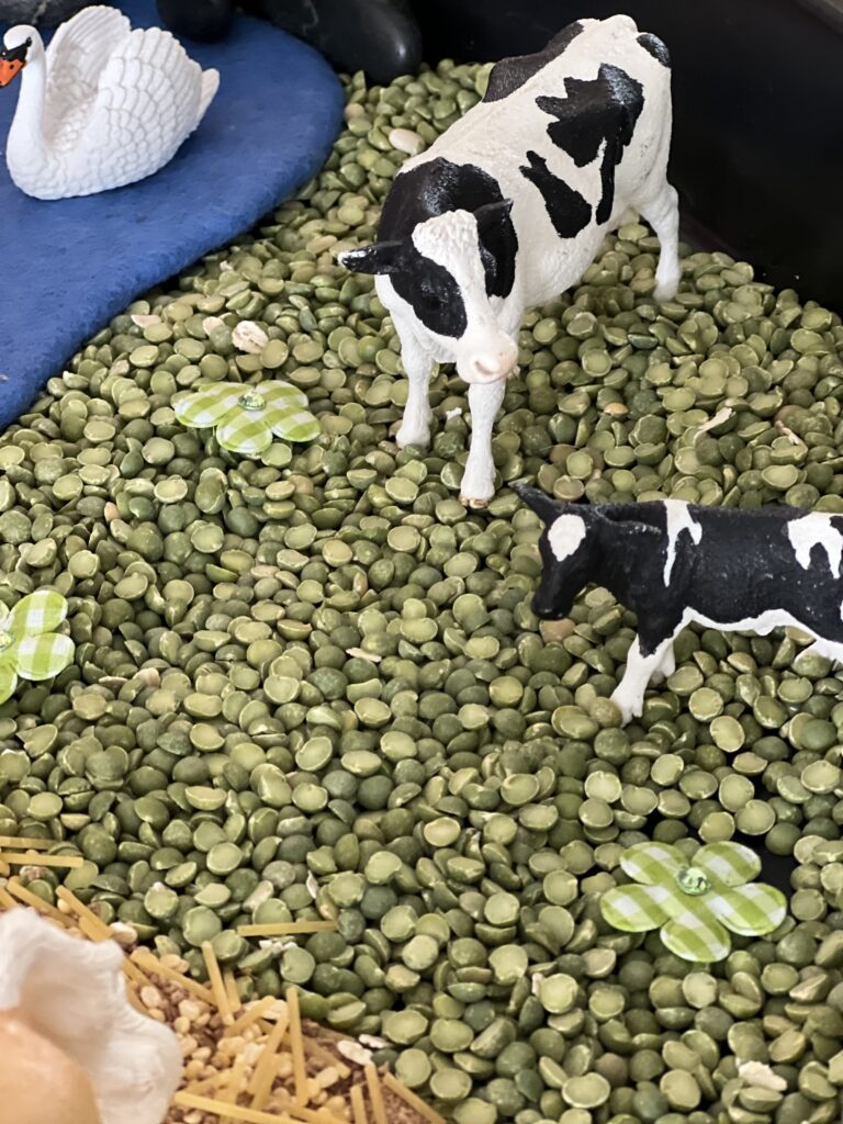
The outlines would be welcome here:
[[[482,167],[454,164],[443,156],[396,176],[383,205],[378,241],[408,243],[406,266],[392,273],[390,280],[396,292],[413,305],[419,320],[432,332],[461,336],[468,323],[465,306],[451,273],[423,257],[413,246],[413,232],[420,223],[446,211],[474,214],[481,207],[504,201],[497,180]],[[486,292],[490,297],[507,297],[515,283],[518,237],[506,208],[501,207],[499,212],[496,209],[493,220],[480,221],[478,234]]]

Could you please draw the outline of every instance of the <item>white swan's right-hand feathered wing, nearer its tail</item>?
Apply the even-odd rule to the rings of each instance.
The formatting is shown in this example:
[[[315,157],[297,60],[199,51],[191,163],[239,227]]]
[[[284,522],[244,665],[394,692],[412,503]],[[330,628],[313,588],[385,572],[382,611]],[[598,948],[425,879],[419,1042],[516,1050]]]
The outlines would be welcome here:
[[[119,164],[121,182],[148,174],[199,125],[218,80],[161,28],[132,31],[100,74],[85,132],[96,149]]]

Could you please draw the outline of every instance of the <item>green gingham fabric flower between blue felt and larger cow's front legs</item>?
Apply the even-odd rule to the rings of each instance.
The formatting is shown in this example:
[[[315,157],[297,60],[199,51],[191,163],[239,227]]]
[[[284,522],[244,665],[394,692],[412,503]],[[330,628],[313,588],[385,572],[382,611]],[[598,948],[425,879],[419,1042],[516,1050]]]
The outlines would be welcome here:
[[[220,448],[241,456],[259,456],[272,444],[312,441],[319,423],[307,408],[307,395],[287,382],[211,382],[173,404],[182,425],[215,428]]]

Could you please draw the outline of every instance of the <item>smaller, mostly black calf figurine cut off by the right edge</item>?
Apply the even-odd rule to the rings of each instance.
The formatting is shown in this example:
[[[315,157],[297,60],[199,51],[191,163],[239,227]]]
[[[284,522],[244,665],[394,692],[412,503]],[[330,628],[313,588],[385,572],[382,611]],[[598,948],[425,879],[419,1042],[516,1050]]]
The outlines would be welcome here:
[[[762,636],[794,625],[814,636],[807,651],[843,662],[843,517],[678,499],[591,507],[516,491],[545,523],[536,616],[566,616],[589,583],[637,614],[611,696],[624,722],[641,714],[653,676],[672,674],[673,638],[689,624]]]

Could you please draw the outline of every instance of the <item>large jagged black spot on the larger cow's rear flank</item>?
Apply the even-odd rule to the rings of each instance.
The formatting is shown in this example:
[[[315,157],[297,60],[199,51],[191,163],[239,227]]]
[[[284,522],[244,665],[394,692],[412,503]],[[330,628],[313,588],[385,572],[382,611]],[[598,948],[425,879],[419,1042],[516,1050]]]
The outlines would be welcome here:
[[[595,218],[606,223],[615,203],[615,169],[644,108],[643,87],[619,66],[602,63],[596,79],[565,79],[565,92],[566,98],[536,98],[536,105],[556,118],[547,126],[547,135],[578,167],[590,164],[605,144],[602,193]]]

